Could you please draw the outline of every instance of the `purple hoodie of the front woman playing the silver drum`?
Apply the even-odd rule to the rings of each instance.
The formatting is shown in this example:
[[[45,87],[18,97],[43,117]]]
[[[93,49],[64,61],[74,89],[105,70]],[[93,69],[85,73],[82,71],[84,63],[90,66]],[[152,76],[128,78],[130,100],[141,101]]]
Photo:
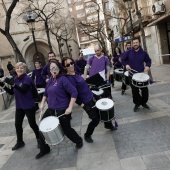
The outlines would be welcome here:
[[[44,96],[47,97],[48,107],[55,110],[67,109],[71,98],[77,98],[77,90],[65,75],[50,78]]]

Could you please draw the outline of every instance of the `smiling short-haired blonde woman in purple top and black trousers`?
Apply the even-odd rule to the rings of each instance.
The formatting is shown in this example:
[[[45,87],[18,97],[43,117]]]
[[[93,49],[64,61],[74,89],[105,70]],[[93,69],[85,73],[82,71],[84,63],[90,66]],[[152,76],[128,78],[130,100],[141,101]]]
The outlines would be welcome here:
[[[39,142],[39,128],[35,120],[35,102],[32,94],[32,79],[26,74],[26,64],[18,62],[15,66],[17,76],[6,78],[5,83],[11,85],[11,88],[6,87],[4,83],[0,83],[4,90],[9,94],[14,94],[16,111],[15,111],[15,128],[17,134],[17,143],[12,150],[17,150],[24,147],[22,123],[25,115],[28,118],[28,123],[33,129],[36,139]]]

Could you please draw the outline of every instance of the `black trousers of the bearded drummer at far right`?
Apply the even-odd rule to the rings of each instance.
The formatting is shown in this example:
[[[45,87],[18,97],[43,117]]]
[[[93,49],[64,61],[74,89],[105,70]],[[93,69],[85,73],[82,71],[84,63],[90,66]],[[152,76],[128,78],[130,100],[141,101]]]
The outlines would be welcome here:
[[[129,76],[129,79],[130,79],[130,85],[132,88],[133,103],[138,106],[146,104],[149,98],[148,87],[143,87],[143,88],[135,87],[132,84],[131,76]]]

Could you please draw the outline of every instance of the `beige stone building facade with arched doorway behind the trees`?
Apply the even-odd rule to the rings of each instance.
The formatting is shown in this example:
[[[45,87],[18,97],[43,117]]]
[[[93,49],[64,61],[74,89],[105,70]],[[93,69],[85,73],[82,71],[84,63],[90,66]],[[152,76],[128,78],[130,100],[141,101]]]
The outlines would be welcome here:
[[[36,1],[36,0],[35,0]],[[4,0],[4,3],[0,3],[0,28],[4,29],[5,28],[5,15],[6,15],[6,10],[8,9],[8,7],[11,5],[12,0]],[[46,1],[37,1],[35,3],[39,3],[39,7],[41,8]],[[37,54],[36,54],[36,50],[35,50],[35,46],[34,46],[34,42],[33,42],[33,37],[32,37],[32,33],[28,28],[28,25],[26,23],[26,21],[23,19],[23,16],[25,15],[26,10],[30,10],[30,5],[29,5],[29,1],[28,2],[18,2],[17,6],[15,7],[13,13],[12,13],[12,18],[11,18],[11,24],[10,24],[10,34],[12,35],[14,41],[16,42],[19,50],[21,51],[26,64],[28,66],[28,69],[31,71],[32,69],[34,69],[34,61],[37,59]],[[50,29],[53,29],[54,32],[57,32],[57,37],[60,38],[61,44],[62,46],[60,48],[62,48],[62,53],[63,56],[68,56],[71,54],[72,57],[77,57],[79,49],[78,49],[78,44],[77,44],[77,37],[76,37],[76,33],[75,33],[75,28],[73,30],[72,28],[72,33],[71,35],[69,35],[69,39],[67,40],[67,45],[65,41],[62,41],[62,38],[64,38],[64,36],[60,35],[61,32],[66,32],[65,30],[63,31],[63,28],[65,27],[64,23],[67,23],[67,25],[70,25],[67,21],[64,21],[63,18],[67,18],[67,20],[71,17],[69,15],[69,8],[68,8],[68,4],[67,1],[61,1],[61,0],[57,0],[57,2],[55,1],[55,3],[59,4],[61,9],[59,9],[56,5],[56,8],[58,8],[57,10],[57,14],[54,15],[53,18],[51,18],[50,22],[49,22],[49,27]],[[47,9],[45,9],[46,14],[48,14],[50,12],[50,7],[48,7]],[[38,55],[39,58],[41,59],[41,61],[43,62],[43,64],[45,64],[48,61],[48,52],[50,51],[49,48],[49,43],[47,40],[47,34],[46,34],[46,30],[44,27],[44,22],[43,21],[38,21],[39,19],[36,19],[35,22],[35,40],[36,40],[36,44],[37,44],[37,49],[38,49]],[[55,21],[55,26],[51,26],[52,22]],[[61,27],[57,28],[57,26],[59,25],[58,23],[63,23],[61,24]],[[57,30],[57,31],[56,31]],[[65,35],[66,36],[66,35]],[[55,35],[53,35],[50,32],[50,40],[51,40],[51,44],[52,44],[52,50],[54,51],[54,53],[56,54],[56,56],[58,57],[58,59],[60,60],[60,53],[59,53],[59,44],[57,41],[57,38]],[[3,69],[6,71],[6,65],[8,61],[12,61],[12,64],[15,64],[17,62],[17,59],[15,57],[15,53],[13,51],[13,48],[11,47],[11,45],[9,44],[8,40],[6,39],[6,37],[3,34],[0,34],[0,59],[1,59],[1,65],[3,67]],[[69,51],[68,51],[69,50]],[[70,53],[69,53],[70,52]],[[3,63],[3,64],[2,64]],[[6,72],[7,73],[7,72]]]

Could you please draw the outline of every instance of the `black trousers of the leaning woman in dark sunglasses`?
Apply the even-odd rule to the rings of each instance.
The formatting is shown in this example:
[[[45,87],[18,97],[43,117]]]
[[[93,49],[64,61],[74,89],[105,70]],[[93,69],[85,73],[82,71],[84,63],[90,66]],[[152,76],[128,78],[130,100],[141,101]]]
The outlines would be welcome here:
[[[94,132],[95,127],[99,124],[99,114],[96,107],[92,108],[93,106],[95,106],[95,102],[93,101],[93,99],[83,106],[83,109],[86,111],[89,118],[91,119],[91,122],[88,124],[85,133],[86,137],[91,136]]]

